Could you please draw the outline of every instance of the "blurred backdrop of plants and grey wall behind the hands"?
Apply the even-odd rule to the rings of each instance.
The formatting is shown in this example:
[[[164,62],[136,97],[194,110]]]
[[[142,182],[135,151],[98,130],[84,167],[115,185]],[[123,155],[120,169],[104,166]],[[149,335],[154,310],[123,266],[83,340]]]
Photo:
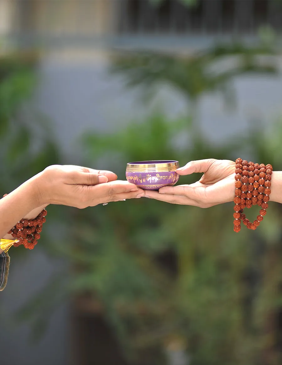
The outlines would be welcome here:
[[[281,27],[280,0],[0,0],[1,194],[51,164],[282,170]],[[48,207],[9,251],[1,365],[281,364],[282,210],[232,214]]]

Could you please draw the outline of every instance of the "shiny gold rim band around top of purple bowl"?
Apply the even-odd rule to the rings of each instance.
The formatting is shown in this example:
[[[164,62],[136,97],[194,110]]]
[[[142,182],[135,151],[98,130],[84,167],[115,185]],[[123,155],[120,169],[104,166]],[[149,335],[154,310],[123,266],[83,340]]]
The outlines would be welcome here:
[[[126,172],[169,172],[178,168],[179,162],[175,160],[136,161],[126,165]]]

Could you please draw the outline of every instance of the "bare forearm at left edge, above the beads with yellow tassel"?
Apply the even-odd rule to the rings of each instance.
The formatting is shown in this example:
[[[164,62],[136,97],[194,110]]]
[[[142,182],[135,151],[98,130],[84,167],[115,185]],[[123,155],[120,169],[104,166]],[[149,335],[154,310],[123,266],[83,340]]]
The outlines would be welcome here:
[[[0,199],[0,238],[13,239],[7,232],[22,218],[35,218],[46,206],[46,204],[39,206],[38,178],[39,175],[32,177]]]

